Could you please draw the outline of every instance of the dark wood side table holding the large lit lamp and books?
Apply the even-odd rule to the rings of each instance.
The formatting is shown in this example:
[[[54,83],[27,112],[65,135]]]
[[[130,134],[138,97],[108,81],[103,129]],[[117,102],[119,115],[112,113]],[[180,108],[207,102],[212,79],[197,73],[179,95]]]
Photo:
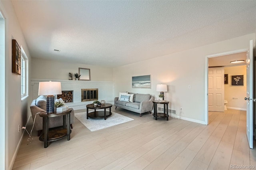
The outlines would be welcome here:
[[[60,140],[67,136],[68,140],[70,140],[70,113],[71,110],[67,110],[64,112],[54,112],[54,113],[39,113],[40,117],[43,117],[43,134],[39,137],[39,140],[44,141],[44,148],[48,147],[48,142]],[[50,117],[58,117],[63,116],[63,126],[48,128],[49,118]],[[67,117],[67,125],[66,125],[66,117]]]

